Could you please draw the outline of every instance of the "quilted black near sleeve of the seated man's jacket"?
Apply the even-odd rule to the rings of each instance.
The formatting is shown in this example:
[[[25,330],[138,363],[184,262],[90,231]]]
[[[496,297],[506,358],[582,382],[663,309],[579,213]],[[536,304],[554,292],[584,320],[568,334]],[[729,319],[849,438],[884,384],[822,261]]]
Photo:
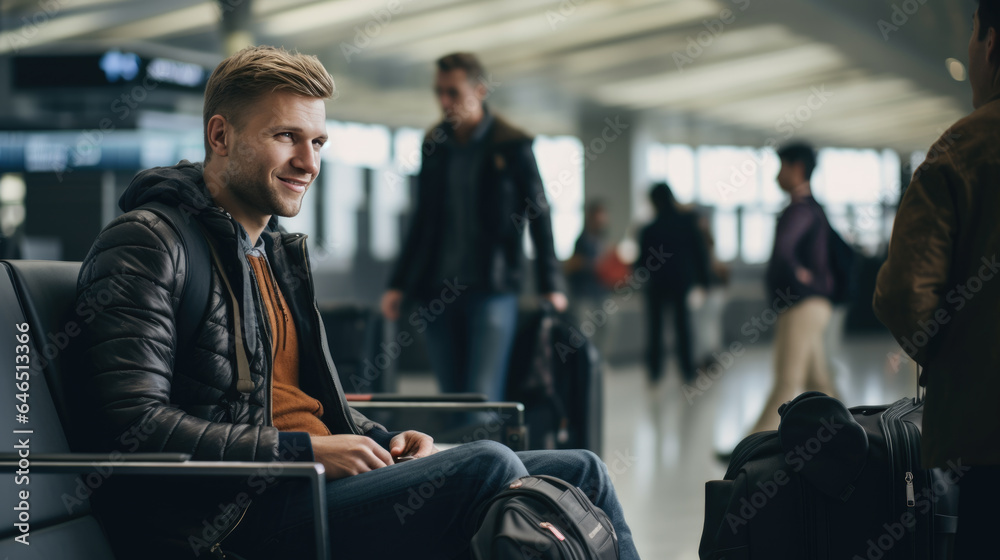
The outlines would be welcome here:
[[[156,215],[134,211],[101,232],[83,263],[77,305],[97,310],[85,318],[79,347],[94,445],[195,460],[276,460],[276,428],[214,422],[171,402],[174,311],[187,273],[180,246]]]

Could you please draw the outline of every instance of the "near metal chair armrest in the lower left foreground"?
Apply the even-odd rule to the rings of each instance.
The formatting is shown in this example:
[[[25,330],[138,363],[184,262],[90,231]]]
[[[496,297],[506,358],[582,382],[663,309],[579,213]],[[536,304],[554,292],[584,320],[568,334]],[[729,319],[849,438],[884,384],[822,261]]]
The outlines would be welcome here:
[[[116,454],[113,458],[100,453],[31,453],[20,457],[16,453],[0,453],[0,472],[14,472],[29,468],[39,474],[84,474],[95,469],[113,469],[120,475],[163,476],[252,476],[263,469],[268,476],[277,478],[305,478],[313,492],[313,520],[316,535],[316,558],[329,558],[327,543],[326,478],[320,463],[281,463],[280,472],[268,466],[272,463],[252,461],[189,461],[183,453],[129,453]]]

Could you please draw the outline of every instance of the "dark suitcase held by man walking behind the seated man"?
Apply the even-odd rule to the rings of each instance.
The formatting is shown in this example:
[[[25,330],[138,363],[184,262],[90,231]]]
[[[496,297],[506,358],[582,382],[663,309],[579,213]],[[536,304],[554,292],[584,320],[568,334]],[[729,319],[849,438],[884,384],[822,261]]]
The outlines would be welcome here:
[[[524,403],[529,449],[601,452],[597,348],[550,306],[519,313],[506,400]]]

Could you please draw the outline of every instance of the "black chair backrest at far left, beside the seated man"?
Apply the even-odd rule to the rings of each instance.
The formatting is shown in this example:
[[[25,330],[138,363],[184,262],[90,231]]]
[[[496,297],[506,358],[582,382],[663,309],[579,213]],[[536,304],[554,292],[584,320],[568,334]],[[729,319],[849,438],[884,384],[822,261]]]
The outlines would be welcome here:
[[[73,314],[80,263],[12,260],[0,262],[0,269],[0,360],[8,372],[0,381],[0,452],[23,451],[29,463],[22,475],[0,475],[0,494],[17,498],[18,505],[27,502],[26,509],[0,508],[0,556],[9,551],[16,558],[106,558],[97,555],[108,549],[88,500],[98,481],[30,468],[32,456],[70,451],[66,411],[79,395],[62,383],[60,358],[79,334],[67,317]],[[27,406],[19,409],[22,404]],[[28,499],[19,498],[22,491]],[[16,524],[25,518],[29,546],[14,541],[22,533]],[[80,554],[80,547],[89,552]]]

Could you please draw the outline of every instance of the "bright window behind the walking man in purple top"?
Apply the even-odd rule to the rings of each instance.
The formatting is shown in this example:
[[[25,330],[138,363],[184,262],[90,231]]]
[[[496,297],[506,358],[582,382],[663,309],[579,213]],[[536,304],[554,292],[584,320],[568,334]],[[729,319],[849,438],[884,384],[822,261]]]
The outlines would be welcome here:
[[[788,202],[778,187],[781,162],[774,150],[653,144],[647,161],[651,179],[667,181],[678,202],[696,203],[711,215],[718,259],[767,261],[777,215]],[[895,152],[827,148],[818,154],[813,194],[845,239],[874,252],[891,232],[899,179]],[[633,219],[648,220],[644,190],[633,199]]]

